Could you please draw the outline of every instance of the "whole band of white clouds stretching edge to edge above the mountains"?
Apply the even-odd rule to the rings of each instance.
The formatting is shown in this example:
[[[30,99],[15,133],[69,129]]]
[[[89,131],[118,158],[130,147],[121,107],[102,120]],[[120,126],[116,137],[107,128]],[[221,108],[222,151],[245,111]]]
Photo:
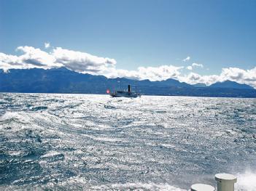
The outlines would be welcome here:
[[[136,70],[116,69],[116,60],[108,57],[97,57],[86,52],[76,52],[61,47],[54,48],[51,52],[44,52],[31,46],[19,46],[17,51],[20,56],[0,52],[0,69],[29,69],[29,68],[60,68],[66,67],[79,73],[103,75],[108,78],[125,77],[138,80],[149,79],[161,81],[168,78],[178,79],[188,84],[204,83],[207,85],[217,81],[236,81],[256,88],[256,67],[251,70],[241,68],[222,68],[220,75],[201,76],[190,72],[188,75],[181,73],[183,67],[174,65],[160,65],[159,67],[139,67]],[[187,66],[188,70],[203,65],[193,63]]]

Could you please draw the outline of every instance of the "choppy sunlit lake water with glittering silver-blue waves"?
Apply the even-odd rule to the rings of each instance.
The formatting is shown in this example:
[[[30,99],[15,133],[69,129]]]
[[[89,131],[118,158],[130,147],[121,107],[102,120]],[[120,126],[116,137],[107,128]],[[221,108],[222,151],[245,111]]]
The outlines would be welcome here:
[[[256,99],[0,94],[1,190],[256,190]]]

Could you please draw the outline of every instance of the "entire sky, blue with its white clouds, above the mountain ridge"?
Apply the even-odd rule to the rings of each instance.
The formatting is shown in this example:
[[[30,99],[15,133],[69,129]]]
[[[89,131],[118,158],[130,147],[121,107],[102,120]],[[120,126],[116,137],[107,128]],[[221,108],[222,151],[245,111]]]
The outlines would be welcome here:
[[[256,88],[255,0],[0,0],[0,68]]]

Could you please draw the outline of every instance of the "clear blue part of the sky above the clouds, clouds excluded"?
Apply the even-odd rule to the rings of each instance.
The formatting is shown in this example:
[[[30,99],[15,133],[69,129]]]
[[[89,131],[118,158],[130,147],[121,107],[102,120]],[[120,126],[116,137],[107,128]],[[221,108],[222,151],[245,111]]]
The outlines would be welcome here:
[[[0,0],[0,28],[0,52],[8,55],[50,42],[52,49],[115,59],[123,70],[174,65],[183,75],[220,76],[222,68],[256,66],[256,1],[250,0]],[[203,67],[187,70],[193,63]]]

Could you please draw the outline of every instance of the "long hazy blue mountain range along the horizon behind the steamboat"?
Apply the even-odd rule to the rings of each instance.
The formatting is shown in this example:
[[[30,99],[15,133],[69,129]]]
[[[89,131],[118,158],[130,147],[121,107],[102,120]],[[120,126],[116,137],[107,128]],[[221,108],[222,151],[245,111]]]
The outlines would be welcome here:
[[[128,84],[137,87],[141,94],[149,95],[177,95],[201,97],[256,97],[255,89],[243,89],[241,86],[217,86],[211,88],[195,87],[181,83],[175,79],[165,81],[136,81],[128,78],[106,78],[90,74],[76,73],[66,68],[43,70],[33,68],[29,70],[9,70],[4,73],[0,70],[0,92],[23,93],[81,93],[81,94],[106,94],[106,89],[127,89]],[[232,83],[233,84],[233,83]],[[231,84],[231,85],[232,85]],[[216,84],[215,84],[216,85]],[[228,87],[228,88],[226,88]],[[229,87],[232,87],[229,88]],[[236,87],[239,87],[236,88]],[[250,86],[249,86],[250,87]]]

